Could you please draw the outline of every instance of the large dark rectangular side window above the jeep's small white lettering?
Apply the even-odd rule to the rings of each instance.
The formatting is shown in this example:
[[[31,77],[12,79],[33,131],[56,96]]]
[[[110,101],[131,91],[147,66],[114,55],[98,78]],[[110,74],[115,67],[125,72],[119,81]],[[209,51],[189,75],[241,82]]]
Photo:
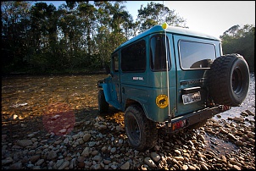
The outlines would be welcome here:
[[[138,41],[121,50],[121,69],[124,72],[146,70],[146,41]]]

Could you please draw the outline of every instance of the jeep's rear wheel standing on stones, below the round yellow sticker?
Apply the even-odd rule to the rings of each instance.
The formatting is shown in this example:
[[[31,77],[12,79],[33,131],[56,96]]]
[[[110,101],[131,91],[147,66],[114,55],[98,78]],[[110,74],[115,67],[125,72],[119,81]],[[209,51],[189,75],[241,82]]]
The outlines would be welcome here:
[[[147,119],[142,108],[137,105],[125,110],[125,132],[130,146],[140,152],[152,148],[158,140],[156,124]]]

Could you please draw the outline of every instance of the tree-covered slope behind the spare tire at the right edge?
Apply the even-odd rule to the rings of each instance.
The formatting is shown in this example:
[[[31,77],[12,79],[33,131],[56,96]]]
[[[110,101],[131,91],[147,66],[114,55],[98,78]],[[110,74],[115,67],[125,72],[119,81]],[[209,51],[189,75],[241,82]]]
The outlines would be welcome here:
[[[220,36],[224,54],[239,53],[246,61],[250,72],[254,72],[255,25],[234,25]]]

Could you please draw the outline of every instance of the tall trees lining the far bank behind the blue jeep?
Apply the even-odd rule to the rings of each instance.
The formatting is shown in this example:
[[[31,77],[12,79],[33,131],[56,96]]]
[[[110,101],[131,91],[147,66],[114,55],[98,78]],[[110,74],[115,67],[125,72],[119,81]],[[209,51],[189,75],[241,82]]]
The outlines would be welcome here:
[[[3,74],[103,69],[109,65],[110,54],[116,47],[153,25],[165,21],[168,25],[188,28],[186,19],[175,14],[174,9],[153,2],[138,9],[136,20],[125,9],[125,1],[66,1],[58,9],[52,3],[6,1],[1,2],[1,12]],[[236,28],[237,35],[231,29],[221,37],[224,52],[234,52],[228,48],[232,46],[230,43],[246,35],[251,37],[246,36],[243,41],[253,37],[254,43],[255,26],[248,25],[242,33],[239,26]],[[242,55],[254,59],[254,45],[253,49],[247,43],[242,45],[241,53],[250,50]]]

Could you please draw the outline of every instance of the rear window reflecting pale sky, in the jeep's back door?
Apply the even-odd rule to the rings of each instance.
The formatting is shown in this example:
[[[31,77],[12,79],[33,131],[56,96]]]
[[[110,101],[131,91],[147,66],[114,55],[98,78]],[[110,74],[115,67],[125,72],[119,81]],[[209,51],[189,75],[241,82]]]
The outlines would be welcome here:
[[[182,69],[210,68],[216,58],[214,44],[180,41],[180,59]]]

